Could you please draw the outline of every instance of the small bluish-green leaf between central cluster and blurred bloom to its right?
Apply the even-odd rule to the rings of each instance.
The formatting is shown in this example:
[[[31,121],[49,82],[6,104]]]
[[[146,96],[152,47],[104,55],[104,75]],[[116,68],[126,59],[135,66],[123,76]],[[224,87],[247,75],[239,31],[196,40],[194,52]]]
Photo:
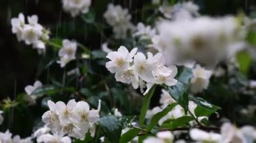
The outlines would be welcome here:
[[[189,83],[190,79],[193,77],[191,68],[185,66],[179,68],[177,80],[181,83]]]

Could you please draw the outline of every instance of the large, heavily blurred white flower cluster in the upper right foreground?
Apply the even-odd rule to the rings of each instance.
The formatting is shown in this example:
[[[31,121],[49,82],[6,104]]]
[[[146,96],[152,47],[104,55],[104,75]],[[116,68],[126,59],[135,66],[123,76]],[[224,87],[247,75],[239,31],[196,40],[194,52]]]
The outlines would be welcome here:
[[[243,30],[235,17],[165,20],[157,30],[152,47],[168,57],[167,65],[195,60],[212,66],[244,46]]]

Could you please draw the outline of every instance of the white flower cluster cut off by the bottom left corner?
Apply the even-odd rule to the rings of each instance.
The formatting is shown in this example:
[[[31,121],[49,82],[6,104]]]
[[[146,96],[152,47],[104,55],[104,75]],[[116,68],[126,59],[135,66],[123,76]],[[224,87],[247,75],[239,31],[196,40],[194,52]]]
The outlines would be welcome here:
[[[20,138],[19,135],[13,136],[13,138],[11,138],[12,134],[9,132],[9,130],[7,130],[6,132],[0,132],[0,142],[3,143],[9,143],[9,142],[13,142],[13,143],[32,143],[32,138],[28,137],[28,138]]]

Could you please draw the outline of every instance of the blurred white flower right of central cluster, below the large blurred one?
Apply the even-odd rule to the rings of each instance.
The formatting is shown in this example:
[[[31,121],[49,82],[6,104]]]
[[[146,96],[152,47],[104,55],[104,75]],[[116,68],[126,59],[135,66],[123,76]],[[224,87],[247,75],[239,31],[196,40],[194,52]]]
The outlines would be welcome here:
[[[193,78],[191,79],[191,91],[193,93],[199,93],[203,89],[207,89],[212,71],[205,70],[199,64],[193,69]]]

